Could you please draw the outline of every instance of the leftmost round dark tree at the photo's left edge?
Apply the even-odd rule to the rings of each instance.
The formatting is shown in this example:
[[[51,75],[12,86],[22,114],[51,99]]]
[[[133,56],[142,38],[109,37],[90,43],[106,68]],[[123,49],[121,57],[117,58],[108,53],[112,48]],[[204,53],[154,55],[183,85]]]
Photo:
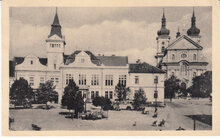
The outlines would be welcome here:
[[[33,95],[33,89],[30,85],[28,85],[27,80],[24,78],[15,80],[10,88],[9,93],[10,100],[15,101],[15,108],[16,105],[24,105],[26,101],[30,101],[30,99],[33,98]]]

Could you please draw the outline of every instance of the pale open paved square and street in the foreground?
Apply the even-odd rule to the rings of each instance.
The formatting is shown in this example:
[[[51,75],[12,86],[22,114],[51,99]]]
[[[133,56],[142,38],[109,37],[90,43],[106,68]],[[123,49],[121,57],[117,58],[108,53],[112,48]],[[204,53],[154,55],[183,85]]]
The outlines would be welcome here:
[[[31,124],[38,125],[41,130],[175,130],[179,126],[193,130],[193,120],[185,115],[212,113],[208,99],[175,99],[172,103],[166,100],[166,107],[158,109],[158,118],[152,118],[154,108],[149,110],[149,115],[143,115],[140,111],[109,111],[108,119],[94,121],[65,118],[59,112],[68,110],[59,107],[50,110],[11,109],[10,117],[15,119],[12,124],[14,130],[31,130]],[[165,127],[151,126],[153,121],[162,119],[166,121]],[[211,130],[211,126],[196,121],[196,129]]]

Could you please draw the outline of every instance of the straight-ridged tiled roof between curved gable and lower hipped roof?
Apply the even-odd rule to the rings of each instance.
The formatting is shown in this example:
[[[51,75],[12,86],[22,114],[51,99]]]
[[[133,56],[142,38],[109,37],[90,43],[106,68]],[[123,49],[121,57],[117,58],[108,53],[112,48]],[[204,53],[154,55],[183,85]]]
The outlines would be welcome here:
[[[105,66],[126,66],[128,64],[127,56],[97,56]]]

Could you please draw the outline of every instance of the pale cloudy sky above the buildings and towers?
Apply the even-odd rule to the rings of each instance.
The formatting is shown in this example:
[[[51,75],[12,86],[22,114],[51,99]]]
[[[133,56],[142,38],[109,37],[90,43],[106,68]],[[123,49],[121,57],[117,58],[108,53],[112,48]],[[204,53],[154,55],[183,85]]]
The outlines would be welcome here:
[[[161,28],[163,8],[171,42],[178,27],[185,34],[191,26],[193,7],[58,7],[65,54],[90,50],[95,55],[128,56],[130,63],[140,59],[156,65],[156,37]],[[202,54],[212,60],[212,9],[194,7],[200,29]],[[30,53],[46,57],[47,36],[55,16],[55,7],[10,8],[10,59]]]

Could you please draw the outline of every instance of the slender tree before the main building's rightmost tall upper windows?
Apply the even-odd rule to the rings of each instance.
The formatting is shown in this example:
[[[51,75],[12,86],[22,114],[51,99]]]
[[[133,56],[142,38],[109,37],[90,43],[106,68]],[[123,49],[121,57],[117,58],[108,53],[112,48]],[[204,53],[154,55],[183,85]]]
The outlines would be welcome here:
[[[130,92],[129,87],[126,87],[125,84],[118,83],[115,86],[115,91],[117,93],[117,97],[119,101],[126,100],[128,92]]]

